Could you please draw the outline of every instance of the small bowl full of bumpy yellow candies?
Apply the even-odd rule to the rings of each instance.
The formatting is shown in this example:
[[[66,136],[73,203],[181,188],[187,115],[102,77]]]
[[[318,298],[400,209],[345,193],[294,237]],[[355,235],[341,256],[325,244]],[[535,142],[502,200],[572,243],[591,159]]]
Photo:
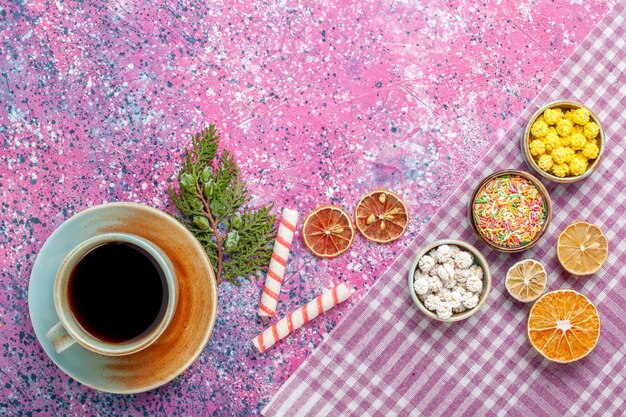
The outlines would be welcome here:
[[[598,167],[604,144],[604,130],[591,110],[574,101],[556,101],[530,118],[522,137],[522,154],[542,177],[571,183]]]

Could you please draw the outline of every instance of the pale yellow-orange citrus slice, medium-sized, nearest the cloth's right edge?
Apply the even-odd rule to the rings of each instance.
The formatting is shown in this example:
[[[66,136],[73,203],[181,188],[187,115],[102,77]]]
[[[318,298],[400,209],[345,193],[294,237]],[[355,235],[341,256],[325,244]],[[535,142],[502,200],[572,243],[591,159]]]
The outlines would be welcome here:
[[[602,230],[595,224],[570,224],[559,236],[556,254],[563,268],[574,275],[597,272],[608,256],[608,243]]]

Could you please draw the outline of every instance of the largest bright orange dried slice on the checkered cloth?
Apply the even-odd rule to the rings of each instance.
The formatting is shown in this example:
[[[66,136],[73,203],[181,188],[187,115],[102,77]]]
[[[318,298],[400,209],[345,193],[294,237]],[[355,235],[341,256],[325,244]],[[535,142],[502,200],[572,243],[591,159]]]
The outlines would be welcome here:
[[[598,310],[576,291],[549,292],[530,309],[528,338],[546,359],[560,363],[577,361],[593,350],[599,337]]]

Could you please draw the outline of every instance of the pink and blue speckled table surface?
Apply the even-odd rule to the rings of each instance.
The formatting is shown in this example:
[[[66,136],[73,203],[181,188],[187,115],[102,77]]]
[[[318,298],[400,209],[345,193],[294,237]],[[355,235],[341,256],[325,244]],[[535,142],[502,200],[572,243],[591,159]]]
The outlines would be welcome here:
[[[0,0],[0,415],[257,414],[613,2],[135,3]],[[277,314],[338,282],[351,302],[259,354],[262,280],[224,284],[179,378],[131,396],[86,388],[34,336],[35,255],[96,204],[174,213],[180,153],[212,122],[253,204],[352,211],[387,187],[410,207],[407,236],[320,260],[297,234]]]

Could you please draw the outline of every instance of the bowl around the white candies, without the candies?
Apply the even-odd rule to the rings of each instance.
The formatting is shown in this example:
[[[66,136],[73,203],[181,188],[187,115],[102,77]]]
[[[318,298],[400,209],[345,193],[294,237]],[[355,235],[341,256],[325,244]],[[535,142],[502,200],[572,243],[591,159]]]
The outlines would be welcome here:
[[[419,260],[422,258],[422,256],[426,255],[426,253],[428,253],[431,249],[436,248],[441,245],[456,245],[462,250],[470,252],[474,256],[475,263],[483,269],[483,291],[480,294],[480,297],[478,298],[478,304],[476,305],[476,307],[470,310],[466,310],[462,313],[454,313],[448,319],[441,319],[439,318],[439,316],[437,316],[437,313],[427,309],[424,306],[424,303],[422,303],[422,301],[419,298],[417,298],[417,294],[415,293],[415,288],[413,287],[413,279],[415,276],[415,270],[417,269],[417,264]],[[491,272],[489,271],[489,264],[487,263],[487,260],[482,255],[482,253],[480,253],[478,249],[476,249],[469,243],[466,243],[460,240],[454,240],[454,239],[437,240],[435,242],[429,243],[428,245],[422,247],[422,249],[420,249],[420,251],[415,254],[415,259],[413,260],[413,263],[411,264],[411,269],[409,270],[409,293],[411,294],[411,297],[413,298],[413,302],[415,303],[417,308],[419,308],[422,311],[422,313],[424,313],[431,319],[445,321],[445,322],[465,320],[466,318],[470,317],[471,315],[476,313],[478,310],[480,310],[480,308],[485,304],[485,301],[487,301],[487,297],[489,296],[489,291],[491,291]]]

